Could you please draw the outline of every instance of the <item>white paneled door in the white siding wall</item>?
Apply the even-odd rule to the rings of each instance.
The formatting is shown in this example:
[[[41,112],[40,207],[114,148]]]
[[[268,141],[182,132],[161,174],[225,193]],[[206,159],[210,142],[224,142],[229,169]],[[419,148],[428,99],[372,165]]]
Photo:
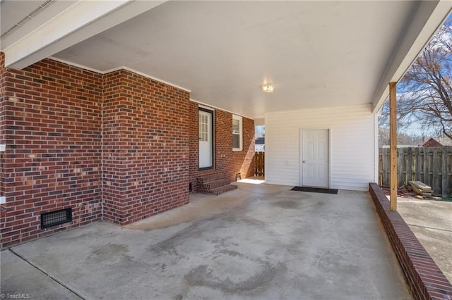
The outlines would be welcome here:
[[[302,130],[301,139],[301,184],[329,187],[329,130]]]

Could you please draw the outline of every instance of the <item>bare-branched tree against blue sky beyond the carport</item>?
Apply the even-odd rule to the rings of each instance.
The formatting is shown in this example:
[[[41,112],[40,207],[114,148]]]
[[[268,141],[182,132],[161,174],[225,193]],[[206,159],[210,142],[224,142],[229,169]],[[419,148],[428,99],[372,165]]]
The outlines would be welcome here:
[[[452,139],[452,15],[398,83],[397,104],[400,128],[419,122]]]

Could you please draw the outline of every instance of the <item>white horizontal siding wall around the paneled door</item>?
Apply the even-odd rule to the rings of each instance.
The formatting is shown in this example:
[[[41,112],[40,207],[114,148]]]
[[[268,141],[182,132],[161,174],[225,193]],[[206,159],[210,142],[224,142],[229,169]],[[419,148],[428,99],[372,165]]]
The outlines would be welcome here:
[[[330,130],[330,187],[369,190],[376,178],[376,124],[370,105],[266,113],[266,182],[300,182],[300,131]]]

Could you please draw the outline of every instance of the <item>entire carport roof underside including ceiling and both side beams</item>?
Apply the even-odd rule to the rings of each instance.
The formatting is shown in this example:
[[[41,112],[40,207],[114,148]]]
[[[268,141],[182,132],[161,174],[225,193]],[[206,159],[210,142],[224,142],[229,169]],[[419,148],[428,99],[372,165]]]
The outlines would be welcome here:
[[[47,1],[1,1],[1,33]],[[8,68],[47,57],[100,73],[129,68],[251,118],[358,104],[379,111],[388,82],[452,8],[448,0],[51,2],[1,39]],[[261,91],[267,82],[273,94]]]

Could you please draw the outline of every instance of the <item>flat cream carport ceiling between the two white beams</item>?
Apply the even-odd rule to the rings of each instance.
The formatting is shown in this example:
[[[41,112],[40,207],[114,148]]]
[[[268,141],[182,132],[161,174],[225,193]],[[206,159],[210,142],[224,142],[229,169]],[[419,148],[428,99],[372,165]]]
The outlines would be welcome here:
[[[101,72],[125,66],[251,118],[355,104],[370,110],[418,6],[168,1],[52,57]],[[266,82],[275,85],[273,94],[261,91]]]

